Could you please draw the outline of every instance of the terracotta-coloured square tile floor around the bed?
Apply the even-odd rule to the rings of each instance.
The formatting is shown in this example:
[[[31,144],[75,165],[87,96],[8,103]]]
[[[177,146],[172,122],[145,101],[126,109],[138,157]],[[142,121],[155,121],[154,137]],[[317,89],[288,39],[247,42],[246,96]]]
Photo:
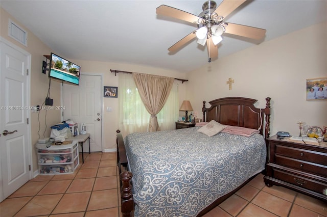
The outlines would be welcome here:
[[[74,174],[38,175],[0,203],[0,216],[122,216],[115,153],[84,154]],[[80,160],[81,161],[81,160]],[[259,174],[205,217],[327,217],[327,204]]]

